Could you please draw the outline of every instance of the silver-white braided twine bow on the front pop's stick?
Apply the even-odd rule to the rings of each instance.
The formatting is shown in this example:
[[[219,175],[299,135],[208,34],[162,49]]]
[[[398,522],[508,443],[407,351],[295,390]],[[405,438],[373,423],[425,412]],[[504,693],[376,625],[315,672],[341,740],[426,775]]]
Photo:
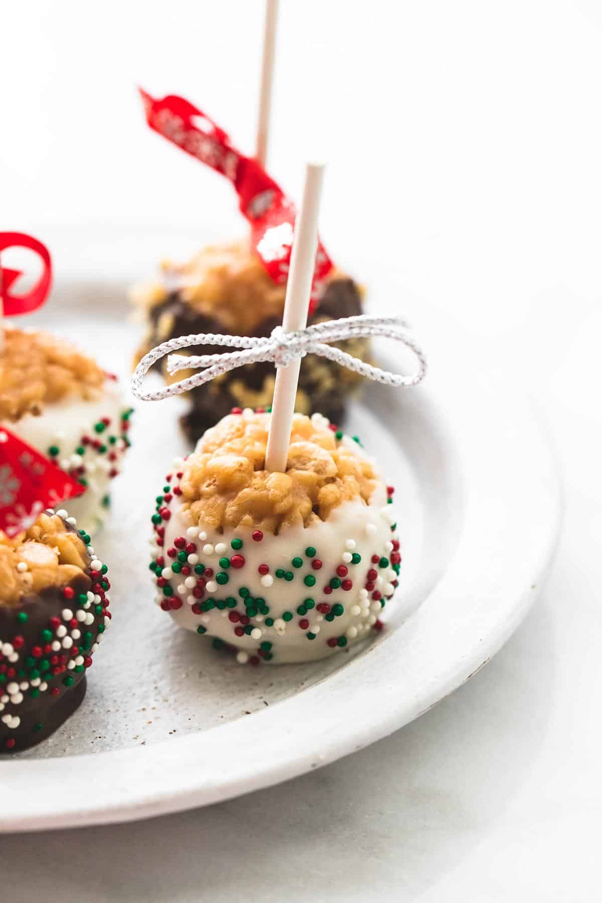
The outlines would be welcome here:
[[[401,317],[371,317],[362,314],[357,317],[346,317],[341,320],[329,320],[308,326],[304,330],[285,332],[282,326],[276,326],[269,338],[256,336],[225,336],[213,332],[201,332],[199,335],[181,336],[157,345],[144,355],[134,370],[132,391],[142,401],[159,401],[162,398],[188,392],[195,386],[202,386],[209,380],[242,367],[244,364],[257,364],[261,361],[272,361],[275,367],[288,367],[293,360],[304,358],[306,354],[319,354],[341,367],[354,370],[362,377],[375,379],[385,386],[417,386],[426,373],[426,358],[421,349],[407,333],[408,324]],[[359,358],[347,354],[339,348],[330,348],[326,342],[360,339],[371,336],[382,336],[402,342],[411,349],[418,359],[418,370],[412,377],[403,377],[379,367],[366,364]],[[223,345],[226,348],[242,349],[225,351],[218,354],[181,355],[171,354],[167,358],[167,370],[170,375],[179,370],[202,368],[201,373],[181,379],[178,383],[165,386],[157,392],[143,392],[143,380],[148,370],[158,360],[171,351],[189,348],[190,345]]]

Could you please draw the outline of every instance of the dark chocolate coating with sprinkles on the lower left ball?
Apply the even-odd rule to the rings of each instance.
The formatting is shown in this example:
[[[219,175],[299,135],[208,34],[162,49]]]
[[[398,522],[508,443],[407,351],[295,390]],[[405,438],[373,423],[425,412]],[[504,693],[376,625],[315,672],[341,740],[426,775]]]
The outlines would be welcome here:
[[[73,529],[69,524],[67,526],[69,529]],[[88,560],[91,560],[89,553]],[[60,656],[66,656],[69,660],[78,654],[91,656],[89,647],[96,642],[99,625],[104,626],[104,614],[97,613],[92,604],[88,611],[94,616],[94,622],[89,625],[84,625],[83,622],[78,623],[82,637],[70,649],[62,648],[59,652],[51,651],[48,648],[48,640],[42,637],[42,631],[51,629],[52,639],[54,639],[56,637],[51,626],[51,618],[58,618],[61,624],[64,623],[61,618],[64,609],[72,610],[75,615],[75,612],[81,607],[78,602],[79,593],[86,593],[92,588],[89,573],[88,566],[87,573],[79,573],[69,582],[69,587],[74,591],[72,599],[65,598],[63,594],[65,587],[48,587],[39,594],[23,596],[16,608],[0,606],[0,638],[2,642],[13,644],[15,638],[23,638],[23,645],[19,640],[19,647],[14,648],[19,655],[18,661],[11,663],[7,656],[2,656],[0,653],[0,678],[2,678],[0,680],[0,696],[5,694],[7,684],[13,681],[17,684],[29,681],[32,679],[32,673],[36,677],[39,675],[42,681],[48,684],[48,689],[38,694],[35,692],[32,694],[36,688],[30,685],[28,689],[22,691],[23,702],[21,703],[5,703],[3,711],[0,712],[0,719],[5,715],[18,715],[21,723],[17,728],[11,729],[0,720],[0,752],[18,752],[20,749],[28,749],[44,740],[53,731],[56,731],[72,712],[75,712],[84,698],[86,669],[84,667],[79,671],[66,669],[52,674],[52,668],[60,665],[57,663],[52,666],[51,658],[58,656],[60,659]],[[27,615],[24,623],[18,617],[21,613]],[[69,629],[68,627],[68,631]],[[90,636],[86,637],[86,634]],[[74,653],[74,649],[77,649],[78,652]],[[40,650],[42,650],[42,655],[39,654]],[[14,675],[12,675],[11,669],[14,670]],[[68,684],[65,684],[66,678],[71,678],[72,683],[68,680]],[[54,695],[52,690],[54,690]],[[6,745],[7,740],[9,741],[8,746]],[[12,740],[14,740],[14,745],[10,742]]]

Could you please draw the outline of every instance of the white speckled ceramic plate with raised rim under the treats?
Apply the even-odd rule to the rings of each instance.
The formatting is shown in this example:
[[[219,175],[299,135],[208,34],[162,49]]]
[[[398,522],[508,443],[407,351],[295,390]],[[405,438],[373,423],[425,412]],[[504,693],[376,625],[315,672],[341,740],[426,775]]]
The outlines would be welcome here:
[[[117,284],[59,287],[38,322],[121,372],[139,331]],[[110,566],[113,627],[79,711],[39,747],[0,759],[1,830],[126,821],[275,784],[384,737],[486,664],[551,561],[558,478],[523,398],[494,378],[452,377],[442,343],[431,359],[418,390],[367,386],[348,424],[396,486],[402,591],[383,634],[310,666],[237,666],[154,607],[147,525],[186,446],[180,400],[137,405],[112,519],[94,543]]]

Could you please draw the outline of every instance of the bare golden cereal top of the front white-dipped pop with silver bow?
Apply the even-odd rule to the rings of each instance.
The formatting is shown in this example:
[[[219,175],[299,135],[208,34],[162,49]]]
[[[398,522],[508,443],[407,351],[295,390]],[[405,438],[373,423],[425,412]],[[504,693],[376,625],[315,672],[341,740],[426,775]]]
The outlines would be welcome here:
[[[371,461],[303,414],[293,418],[286,472],[264,470],[269,421],[269,414],[230,414],[200,439],[180,484],[194,523],[277,534],[326,520],[354,498],[368,504],[377,479]]]

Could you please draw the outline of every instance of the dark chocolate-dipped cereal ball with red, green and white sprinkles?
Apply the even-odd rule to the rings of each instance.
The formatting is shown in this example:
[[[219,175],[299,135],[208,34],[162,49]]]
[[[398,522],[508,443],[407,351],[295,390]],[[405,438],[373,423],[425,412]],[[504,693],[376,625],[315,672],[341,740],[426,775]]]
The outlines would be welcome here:
[[[0,752],[44,740],[78,708],[110,620],[107,566],[66,511],[0,531]]]

